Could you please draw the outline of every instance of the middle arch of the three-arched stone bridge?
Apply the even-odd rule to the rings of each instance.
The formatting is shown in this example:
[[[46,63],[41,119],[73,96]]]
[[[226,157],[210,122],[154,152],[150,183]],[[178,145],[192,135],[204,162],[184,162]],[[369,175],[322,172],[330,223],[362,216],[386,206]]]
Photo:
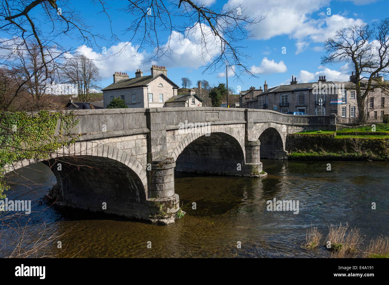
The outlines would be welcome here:
[[[217,126],[216,126],[217,127]],[[223,131],[224,130],[224,131]],[[228,133],[227,133],[228,132]],[[197,133],[180,142],[175,151],[175,170],[223,175],[242,175],[245,153],[232,129],[215,128],[207,134]]]

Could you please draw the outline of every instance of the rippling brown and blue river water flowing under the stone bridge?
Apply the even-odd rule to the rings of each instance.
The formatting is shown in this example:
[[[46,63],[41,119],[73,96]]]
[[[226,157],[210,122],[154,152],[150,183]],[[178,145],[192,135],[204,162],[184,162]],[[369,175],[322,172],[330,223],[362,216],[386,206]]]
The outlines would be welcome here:
[[[46,248],[46,255],[56,257],[329,257],[323,246],[300,247],[311,224],[325,237],[329,224],[347,222],[366,235],[364,243],[389,234],[388,166],[336,161],[327,171],[324,161],[263,160],[263,178],[177,172],[175,192],[186,215],[175,224],[33,202],[29,225],[45,222],[48,233],[64,234]],[[13,178],[23,185],[12,187],[9,199],[41,200],[56,182],[44,164],[30,167]],[[298,200],[299,213],[267,211],[266,201],[273,198]]]

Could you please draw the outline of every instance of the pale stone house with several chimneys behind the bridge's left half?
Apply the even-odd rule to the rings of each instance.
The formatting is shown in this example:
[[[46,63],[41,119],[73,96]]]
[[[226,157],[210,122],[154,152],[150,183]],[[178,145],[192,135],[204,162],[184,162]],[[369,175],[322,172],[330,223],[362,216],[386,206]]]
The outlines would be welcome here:
[[[135,77],[127,73],[115,72],[114,83],[102,89],[104,108],[113,98],[121,98],[129,108],[166,107],[165,102],[177,95],[177,86],[167,77],[165,66],[151,67],[151,75],[143,76],[137,70]]]

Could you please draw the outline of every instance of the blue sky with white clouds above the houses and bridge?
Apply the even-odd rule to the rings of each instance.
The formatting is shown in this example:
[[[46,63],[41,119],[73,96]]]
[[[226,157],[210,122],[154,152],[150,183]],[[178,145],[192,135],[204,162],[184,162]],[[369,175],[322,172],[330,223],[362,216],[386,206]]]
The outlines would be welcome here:
[[[333,35],[339,28],[350,24],[371,24],[374,21],[387,17],[389,1],[387,0],[229,0],[198,1],[209,6],[236,5],[243,3],[250,11],[250,16],[266,18],[254,28],[254,38],[245,40],[242,45],[247,46],[245,53],[251,55],[249,66],[259,78],[243,76],[236,80],[233,72],[229,74],[229,85],[237,89],[248,89],[250,86],[259,88],[266,80],[269,87],[279,84],[289,84],[292,75],[297,77],[298,82],[315,81],[319,75],[326,75],[328,80],[348,80],[351,73],[346,63],[337,63],[331,66],[321,66],[320,57],[323,41]],[[80,11],[85,22],[92,26],[92,30],[110,37],[110,26],[107,17],[99,14],[101,7],[95,6],[88,1],[70,0],[75,9]],[[112,7],[108,10],[112,19],[112,29],[119,37],[119,41],[105,44],[101,41],[100,46],[106,46],[107,54],[114,54],[128,42],[130,34],[125,34],[124,29],[129,26],[131,16],[117,10],[124,2],[110,1]],[[330,9],[330,10],[329,10]],[[165,35],[166,40],[168,34]],[[175,35],[179,37],[179,35]],[[174,38],[174,37],[173,37]],[[78,47],[79,51],[93,59],[101,59],[99,51],[90,47],[80,46],[76,40],[63,39],[63,44]],[[143,64],[147,54],[135,54],[137,42],[127,45],[126,51],[120,56],[113,56],[103,61],[96,61],[102,76],[101,86],[105,87],[112,83],[114,72],[127,72],[130,77],[136,69],[141,69],[144,75],[150,74],[151,64],[163,65],[168,69],[168,77],[177,85],[181,86],[181,78],[188,77],[196,87],[197,80],[205,79],[211,85],[225,82],[225,70],[209,74],[202,74],[204,68],[198,60],[191,56],[189,46],[180,45],[178,42],[173,46],[177,56],[165,61]],[[282,49],[286,53],[282,53]]]

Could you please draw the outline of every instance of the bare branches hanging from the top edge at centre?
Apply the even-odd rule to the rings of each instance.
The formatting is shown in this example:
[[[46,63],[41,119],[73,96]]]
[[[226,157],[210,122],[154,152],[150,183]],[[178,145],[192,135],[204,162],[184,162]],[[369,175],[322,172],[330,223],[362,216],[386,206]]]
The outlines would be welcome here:
[[[227,64],[239,66],[237,77],[243,72],[255,76],[246,63],[249,56],[242,51],[244,47],[240,43],[251,37],[250,27],[263,18],[250,17],[243,5],[208,8],[192,0],[173,0],[169,3],[163,0],[128,2],[123,10],[135,17],[127,29],[131,33],[130,41],[139,43],[138,51],[153,47],[154,55],[150,60],[174,54],[170,48],[171,38],[162,44],[165,42],[162,39],[164,32],[174,31],[182,34],[182,42],[191,41],[192,51],[199,55],[198,60],[205,65],[204,72],[215,72]],[[196,37],[197,34],[200,36]]]

